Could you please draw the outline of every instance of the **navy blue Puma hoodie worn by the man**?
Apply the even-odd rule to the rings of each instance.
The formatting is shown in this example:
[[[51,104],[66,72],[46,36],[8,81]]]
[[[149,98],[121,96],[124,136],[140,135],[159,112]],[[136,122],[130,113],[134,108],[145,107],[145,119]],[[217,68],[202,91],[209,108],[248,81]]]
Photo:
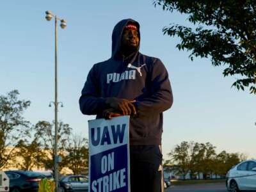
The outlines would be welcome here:
[[[112,55],[96,63],[90,70],[79,99],[84,115],[102,117],[107,97],[136,100],[138,117],[130,118],[131,145],[160,145],[163,132],[163,111],[173,102],[168,72],[163,63],[150,56],[134,52],[124,58],[120,52],[122,31],[132,19],[116,24],[112,34]],[[140,38],[140,33],[139,33]]]

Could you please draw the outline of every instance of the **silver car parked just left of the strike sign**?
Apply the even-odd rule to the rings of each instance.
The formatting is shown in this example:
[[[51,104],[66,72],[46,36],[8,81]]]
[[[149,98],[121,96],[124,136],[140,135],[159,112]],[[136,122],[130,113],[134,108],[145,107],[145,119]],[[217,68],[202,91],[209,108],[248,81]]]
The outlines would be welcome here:
[[[63,176],[60,180],[60,187],[65,192],[88,191],[88,177],[85,175]]]

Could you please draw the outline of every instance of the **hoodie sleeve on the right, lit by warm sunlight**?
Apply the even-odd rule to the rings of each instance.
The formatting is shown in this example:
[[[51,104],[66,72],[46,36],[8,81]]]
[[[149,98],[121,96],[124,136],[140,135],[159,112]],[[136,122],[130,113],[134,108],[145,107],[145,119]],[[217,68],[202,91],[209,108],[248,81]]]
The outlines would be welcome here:
[[[150,89],[150,94],[148,97],[138,99],[136,102],[139,116],[162,113],[169,109],[173,103],[168,72],[160,60],[157,59],[153,63],[152,70],[148,76],[147,87]]]

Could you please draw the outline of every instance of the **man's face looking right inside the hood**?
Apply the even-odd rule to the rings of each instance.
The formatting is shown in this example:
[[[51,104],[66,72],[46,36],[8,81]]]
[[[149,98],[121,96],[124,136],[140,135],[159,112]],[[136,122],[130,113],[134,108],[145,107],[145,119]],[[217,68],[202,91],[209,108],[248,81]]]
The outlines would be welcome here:
[[[122,34],[122,47],[128,50],[136,51],[139,45],[140,39],[137,30],[124,29]]]

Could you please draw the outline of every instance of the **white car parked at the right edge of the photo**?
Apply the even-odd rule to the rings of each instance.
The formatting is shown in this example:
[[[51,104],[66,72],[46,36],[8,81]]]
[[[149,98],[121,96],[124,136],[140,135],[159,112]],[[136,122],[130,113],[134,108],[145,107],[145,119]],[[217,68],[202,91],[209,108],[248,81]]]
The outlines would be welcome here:
[[[226,186],[228,191],[256,190],[256,160],[246,160],[228,171]]]

